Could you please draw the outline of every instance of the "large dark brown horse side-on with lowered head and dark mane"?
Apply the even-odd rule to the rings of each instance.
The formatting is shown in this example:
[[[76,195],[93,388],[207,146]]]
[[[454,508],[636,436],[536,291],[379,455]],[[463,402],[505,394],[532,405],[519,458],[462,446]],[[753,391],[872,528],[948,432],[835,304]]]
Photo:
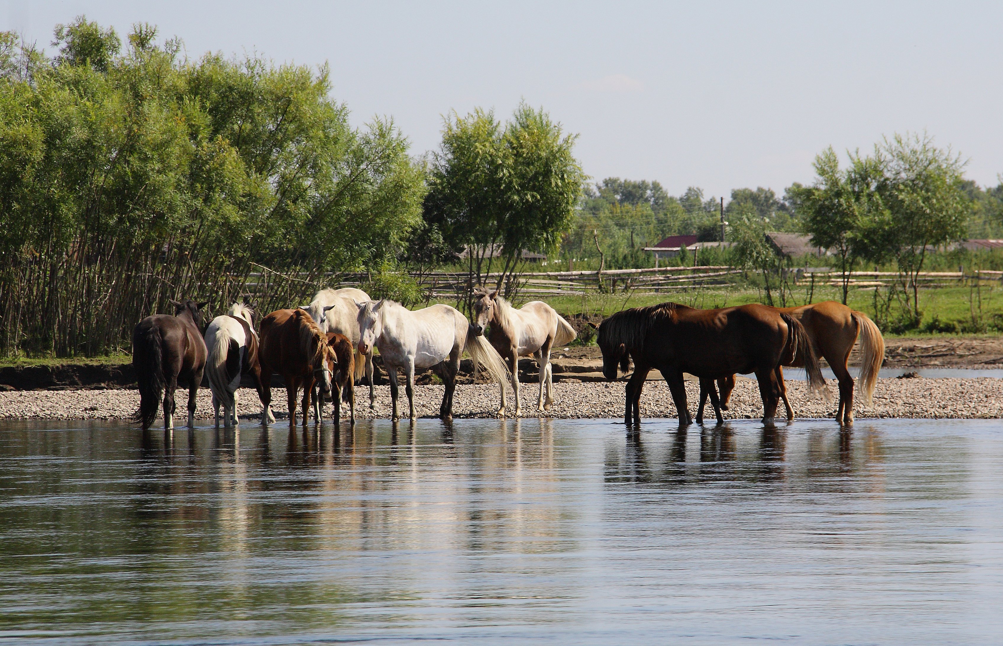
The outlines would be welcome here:
[[[811,390],[824,391],[825,380],[818,360],[801,324],[788,314],[765,305],[743,305],[715,310],[697,310],[675,303],[617,312],[599,326],[603,351],[603,374],[617,378],[618,365],[625,371],[628,356],[634,359],[634,374],[627,383],[624,421],[639,422],[639,400],[648,372],[662,373],[679,412],[680,424],[691,418],[686,407],[683,372],[710,385],[711,403],[718,421],[717,396],[710,379],[736,372],[755,372],[762,397],[763,423],[773,423],[779,400],[776,366],[785,356],[803,357]],[[740,367],[739,367],[740,366]]]

